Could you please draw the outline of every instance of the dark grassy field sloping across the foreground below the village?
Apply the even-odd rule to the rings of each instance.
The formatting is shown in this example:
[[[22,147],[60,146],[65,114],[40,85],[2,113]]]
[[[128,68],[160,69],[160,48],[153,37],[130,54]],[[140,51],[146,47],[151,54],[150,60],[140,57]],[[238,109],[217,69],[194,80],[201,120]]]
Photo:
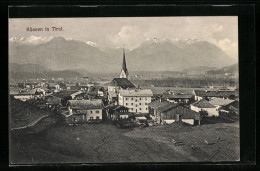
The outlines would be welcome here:
[[[183,145],[174,146],[172,139]],[[237,160],[238,123],[194,127],[175,123],[142,129],[108,123],[55,125],[38,134],[12,135],[10,144],[12,164]]]

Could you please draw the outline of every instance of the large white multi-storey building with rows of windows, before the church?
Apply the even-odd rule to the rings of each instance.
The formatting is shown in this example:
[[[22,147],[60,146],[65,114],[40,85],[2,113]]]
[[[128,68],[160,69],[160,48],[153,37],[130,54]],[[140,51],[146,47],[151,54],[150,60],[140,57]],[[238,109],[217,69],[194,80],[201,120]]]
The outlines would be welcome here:
[[[129,108],[132,113],[148,113],[152,96],[150,89],[119,90],[118,104]]]

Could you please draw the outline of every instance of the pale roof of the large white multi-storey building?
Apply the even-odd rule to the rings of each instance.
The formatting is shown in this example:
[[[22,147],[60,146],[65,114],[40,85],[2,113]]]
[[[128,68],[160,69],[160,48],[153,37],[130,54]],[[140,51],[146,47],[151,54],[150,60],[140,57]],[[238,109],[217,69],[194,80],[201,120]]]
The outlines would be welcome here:
[[[121,96],[127,96],[127,97],[151,97],[151,96],[153,96],[153,93],[150,89],[119,90],[119,94]]]

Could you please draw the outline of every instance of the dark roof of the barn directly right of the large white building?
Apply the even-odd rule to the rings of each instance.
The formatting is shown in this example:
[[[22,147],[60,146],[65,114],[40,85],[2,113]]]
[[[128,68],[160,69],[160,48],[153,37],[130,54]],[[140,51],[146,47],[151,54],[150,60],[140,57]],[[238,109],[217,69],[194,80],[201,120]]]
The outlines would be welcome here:
[[[178,104],[177,103],[171,103],[171,102],[168,102],[168,101],[161,101],[160,102],[160,100],[156,100],[156,101],[149,103],[148,106],[157,110],[157,112],[165,112],[165,111],[168,111],[168,110],[170,110],[174,107],[177,107]]]

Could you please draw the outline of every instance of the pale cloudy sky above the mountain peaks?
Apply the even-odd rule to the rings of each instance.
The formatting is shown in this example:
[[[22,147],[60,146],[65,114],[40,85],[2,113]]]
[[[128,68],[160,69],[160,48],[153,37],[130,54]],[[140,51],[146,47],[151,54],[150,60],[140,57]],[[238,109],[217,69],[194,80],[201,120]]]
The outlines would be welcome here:
[[[43,28],[29,32],[27,27]],[[45,27],[50,28],[45,31]],[[62,27],[53,31],[52,27]],[[35,36],[35,37],[33,37]],[[111,17],[111,18],[19,18],[9,19],[9,38],[48,40],[62,36],[101,46],[133,50],[148,39],[198,39],[217,45],[238,60],[238,18],[217,17]]]

